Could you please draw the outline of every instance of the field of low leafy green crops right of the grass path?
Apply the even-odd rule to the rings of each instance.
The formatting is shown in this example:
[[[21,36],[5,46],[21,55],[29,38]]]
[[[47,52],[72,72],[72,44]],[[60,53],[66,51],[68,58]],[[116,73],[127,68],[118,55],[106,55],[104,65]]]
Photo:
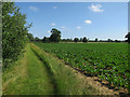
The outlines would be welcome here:
[[[108,86],[129,88],[127,43],[35,43],[86,75],[99,77]]]

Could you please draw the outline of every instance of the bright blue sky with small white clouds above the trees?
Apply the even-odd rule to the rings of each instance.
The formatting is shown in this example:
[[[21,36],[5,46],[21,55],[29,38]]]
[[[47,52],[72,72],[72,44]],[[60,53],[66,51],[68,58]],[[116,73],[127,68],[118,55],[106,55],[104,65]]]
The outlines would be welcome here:
[[[52,28],[62,38],[125,40],[128,32],[127,2],[16,2],[35,37],[49,37]]]

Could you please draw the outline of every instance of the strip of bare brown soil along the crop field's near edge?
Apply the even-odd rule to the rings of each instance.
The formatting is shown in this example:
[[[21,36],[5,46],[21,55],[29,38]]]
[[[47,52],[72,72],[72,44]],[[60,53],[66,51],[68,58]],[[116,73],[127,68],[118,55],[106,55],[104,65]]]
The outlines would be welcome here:
[[[102,81],[99,77],[88,75],[87,72],[82,72],[80,69],[74,68],[70,65],[66,64],[64,59],[60,59],[60,60],[64,63],[66,67],[70,67],[72,70],[75,72],[75,74],[78,78],[82,79],[86,85],[90,85],[94,87],[96,91],[99,91],[99,95],[130,96],[130,94],[128,94],[127,88],[121,87],[120,89],[118,89],[117,87],[114,87],[113,85],[109,86],[107,81],[105,80]]]

